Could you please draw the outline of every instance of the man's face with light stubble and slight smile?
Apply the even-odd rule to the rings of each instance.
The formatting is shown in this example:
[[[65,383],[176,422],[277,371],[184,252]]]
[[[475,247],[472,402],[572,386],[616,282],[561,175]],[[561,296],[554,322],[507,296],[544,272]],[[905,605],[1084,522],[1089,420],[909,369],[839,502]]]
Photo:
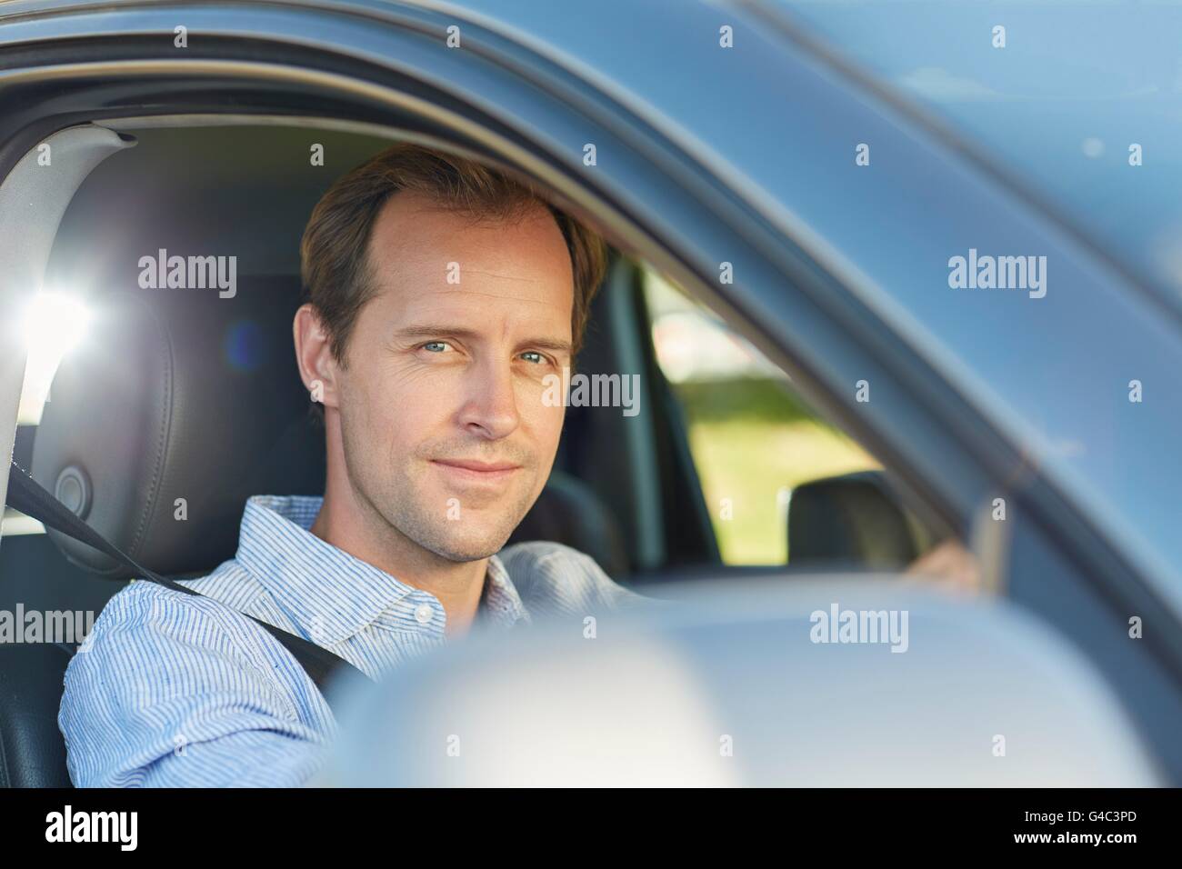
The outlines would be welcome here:
[[[537,500],[558,449],[564,408],[543,396],[546,375],[571,363],[563,234],[540,206],[520,222],[473,223],[396,194],[369,257],[377,293],[339,371],[350,482],[420,546],[485,558]]]

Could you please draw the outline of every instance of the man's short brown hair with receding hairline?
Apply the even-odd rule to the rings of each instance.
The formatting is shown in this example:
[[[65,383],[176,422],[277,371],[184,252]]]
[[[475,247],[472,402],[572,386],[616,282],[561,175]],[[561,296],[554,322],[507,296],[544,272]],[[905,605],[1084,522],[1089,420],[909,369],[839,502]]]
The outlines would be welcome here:
[[[591,299],[606,268],[603,240],[527,183],[460,156],[403,143],[338,179],[312,209],[304,231],[304,299],[319,314],[332,355],[342,365],[357,316],[377,292],[368,255],[374,221],[390,196],[402,190],[424,195],[474,223],[519,220],[537,206],[547,208],[571,255],[571,339],[578,351]]]

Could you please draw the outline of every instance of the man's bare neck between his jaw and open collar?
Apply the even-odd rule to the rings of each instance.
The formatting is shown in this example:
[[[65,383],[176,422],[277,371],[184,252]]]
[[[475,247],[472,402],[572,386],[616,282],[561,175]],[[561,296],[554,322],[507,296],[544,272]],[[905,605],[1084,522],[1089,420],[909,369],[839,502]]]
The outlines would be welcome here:
[[[437,597],[447,614],[448,636],[472,627],[485,589],[487,558],[449,562],[391,527],[351,489],[333,492],[331,485],[310,530],[325,543]]]

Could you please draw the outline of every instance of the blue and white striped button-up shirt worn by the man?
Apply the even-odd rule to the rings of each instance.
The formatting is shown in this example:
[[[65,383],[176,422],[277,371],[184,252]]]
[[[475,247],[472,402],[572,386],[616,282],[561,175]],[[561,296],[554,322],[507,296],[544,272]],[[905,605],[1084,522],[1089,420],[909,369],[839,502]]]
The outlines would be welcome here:
[[[66,669],[58,726],[77,786],[294,786],[336,733],[296,659],[242,614],[303,636],[371,677],[444,642],[439,598],[312,534],[320,498],[255,495],[235,557],[186,581],[132,582]],[[478,628],[582,618],[645,598],[556,543],[488,560]]]

